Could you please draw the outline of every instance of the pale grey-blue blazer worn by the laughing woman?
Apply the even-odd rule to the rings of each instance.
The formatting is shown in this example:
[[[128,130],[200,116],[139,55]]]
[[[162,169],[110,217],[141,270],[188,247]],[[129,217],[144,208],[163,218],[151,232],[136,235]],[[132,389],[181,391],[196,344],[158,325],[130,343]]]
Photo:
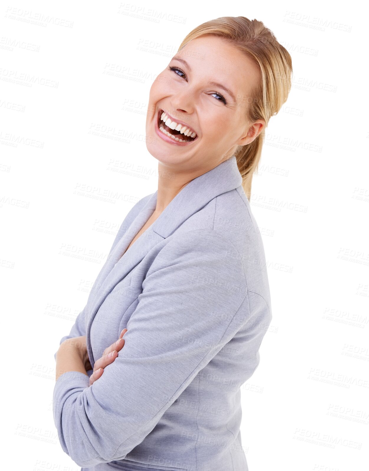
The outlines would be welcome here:
[[[157,192],[124,219],[60,341],[86,335],[93,366],[128,329],[90,387],[74,371],[55,383],[58,438],[83,470],[247,471],[240,388],[259,364],[271,300],[241,183],[233,155],[182,188],[122,257]]]

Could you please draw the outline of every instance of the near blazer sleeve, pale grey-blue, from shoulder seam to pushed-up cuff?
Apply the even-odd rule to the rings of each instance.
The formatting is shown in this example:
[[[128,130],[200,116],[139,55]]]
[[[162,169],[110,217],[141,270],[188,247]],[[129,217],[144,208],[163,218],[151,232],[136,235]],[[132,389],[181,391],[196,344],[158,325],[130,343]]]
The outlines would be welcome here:
[[[66,372],[55,384],[59,441],[81,467],[123,459],[250,318],[243,260],[214,231],[173,237],[142,288],[101,378],[89,387],[85,374]]]

